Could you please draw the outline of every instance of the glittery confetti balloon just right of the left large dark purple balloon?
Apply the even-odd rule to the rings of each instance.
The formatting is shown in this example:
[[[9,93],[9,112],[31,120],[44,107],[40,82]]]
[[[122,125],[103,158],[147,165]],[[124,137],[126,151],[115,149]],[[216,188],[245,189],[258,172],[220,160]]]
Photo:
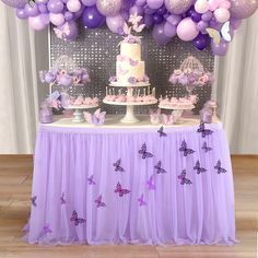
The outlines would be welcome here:
[[[96,7],[104,16],[114,16],[121,9],[121,1],[122,0],[97,0]]]

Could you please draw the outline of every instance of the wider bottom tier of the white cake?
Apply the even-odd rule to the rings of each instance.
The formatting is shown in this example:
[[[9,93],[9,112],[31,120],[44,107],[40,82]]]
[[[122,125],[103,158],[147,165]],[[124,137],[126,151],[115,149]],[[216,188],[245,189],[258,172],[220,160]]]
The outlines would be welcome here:
[[[138,61],[133,66],[130,62],[117,61],[116,75],[119,83],[136,83],[142,81],[145,74],[145,62]],[[133,80],[136,81],[133,82]]]

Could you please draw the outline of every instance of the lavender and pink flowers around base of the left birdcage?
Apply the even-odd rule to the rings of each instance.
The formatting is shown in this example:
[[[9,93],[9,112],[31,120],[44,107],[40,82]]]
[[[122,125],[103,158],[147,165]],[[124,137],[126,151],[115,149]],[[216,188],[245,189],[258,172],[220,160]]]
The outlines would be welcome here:
[[[86,84],[91,81],[85,68],[74,71],[52,68],[48,71],[40,71],[39,79],[42,82],[56,83],[66,87],[77,84]]]

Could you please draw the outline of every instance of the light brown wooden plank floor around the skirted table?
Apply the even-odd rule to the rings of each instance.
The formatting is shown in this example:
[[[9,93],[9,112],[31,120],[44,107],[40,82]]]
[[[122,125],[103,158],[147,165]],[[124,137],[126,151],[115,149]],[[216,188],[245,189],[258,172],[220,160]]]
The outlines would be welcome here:
[[[233,156],[239,244],[225,246],[32,246],[21,237],[30,212],[31,156],[0,156],[0,258],[257,257],[258,156]]]

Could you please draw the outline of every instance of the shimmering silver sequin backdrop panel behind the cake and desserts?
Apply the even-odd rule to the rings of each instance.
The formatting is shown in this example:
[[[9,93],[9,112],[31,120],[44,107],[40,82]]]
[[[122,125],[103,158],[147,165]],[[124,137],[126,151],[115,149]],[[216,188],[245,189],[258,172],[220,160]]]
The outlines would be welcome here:
[[[172,71],[180,67],[181,61],[191,54],[196,56],[206,70],[213,71],[214,57],[210,49],[198,51],[191,43],[184,43],[175,37],[168,45],[157,46],[152,37],[151,31],[144,31],[142,39],[142,59],[145,61],[146,74],[150,77],[152,86],[156,87],[156,96],[185,96],[185,87],[172,86],[168,78]],[[92,82],[85,87],[71,87],[69,92],[73,95],[84,94],[97,95],[102,99],[108,86],[108,79],[116,73],[116,56],[119,55],[118,44],[121,36],[112,33],[107,28],[85,30],[80,28],[80,36],[75,42],[64,42],[50,33],[50,64],[61,55],[69,55],[79,67],[89,69]],[[58,89],[55,86],[52,90]],[[199,103],[195,109],[198,114],[204,102],[211,96],[211,86],[196,89],[194,93],[199,95]],[[109,114],[125,113],[125,107],[103,104],[102,107]],[[138,114],[146,114],[150,107],[137,107]]]

